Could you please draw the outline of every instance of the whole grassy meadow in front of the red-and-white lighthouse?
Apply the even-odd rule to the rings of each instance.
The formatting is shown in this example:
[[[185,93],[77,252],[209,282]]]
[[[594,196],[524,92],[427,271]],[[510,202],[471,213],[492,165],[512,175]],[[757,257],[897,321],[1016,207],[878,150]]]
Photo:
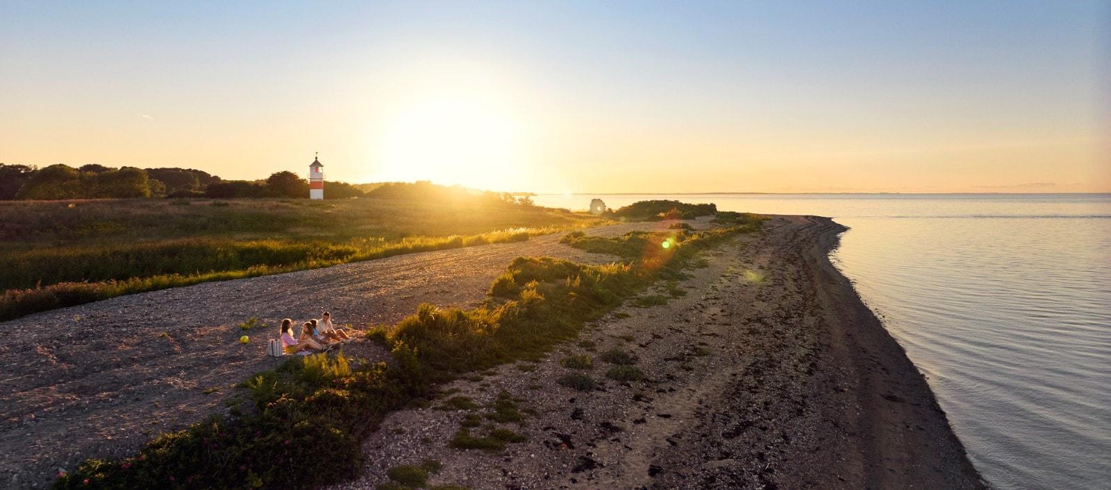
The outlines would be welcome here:
[[[599,223],[489,202],[402,200],[0,203],[0,319],[113,296]]]

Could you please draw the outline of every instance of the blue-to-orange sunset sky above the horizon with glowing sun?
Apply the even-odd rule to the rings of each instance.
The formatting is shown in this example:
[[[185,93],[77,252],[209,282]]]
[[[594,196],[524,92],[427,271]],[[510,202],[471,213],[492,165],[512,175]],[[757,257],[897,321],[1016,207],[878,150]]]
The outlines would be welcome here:
[[[0,162],[1111,192],[1111,2],[0,0]]]

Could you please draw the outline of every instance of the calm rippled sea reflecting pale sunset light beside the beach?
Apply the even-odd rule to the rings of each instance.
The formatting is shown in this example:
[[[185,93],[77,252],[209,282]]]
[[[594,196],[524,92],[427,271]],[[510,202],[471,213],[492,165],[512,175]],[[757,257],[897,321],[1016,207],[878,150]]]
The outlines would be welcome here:
[[[834,264],[999,488],[1111,488],[1111,194],[541,195],[833,217]]]

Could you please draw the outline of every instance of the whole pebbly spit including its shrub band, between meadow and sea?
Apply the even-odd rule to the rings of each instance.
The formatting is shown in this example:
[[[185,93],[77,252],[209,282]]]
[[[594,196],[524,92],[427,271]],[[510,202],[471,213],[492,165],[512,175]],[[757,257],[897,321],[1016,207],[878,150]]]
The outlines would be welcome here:
[[[922,377],[830,266],[842,229],[629,222],[6,321],[28,335],[0,350],[0,480],[979,486]],[[263,356],[282,317],[321,309],[366,337]],[[322,453],[333,471],[274,469]]]

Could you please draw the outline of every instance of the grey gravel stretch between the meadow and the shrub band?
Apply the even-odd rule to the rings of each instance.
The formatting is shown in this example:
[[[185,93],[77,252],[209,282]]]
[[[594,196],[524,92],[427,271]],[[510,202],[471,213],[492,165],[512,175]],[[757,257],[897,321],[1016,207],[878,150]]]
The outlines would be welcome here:
[[[47,487],[59,468],[129,455],[157,433],[226,411],[231,385],[280,361],[264,351],[281,318],[327,309],[337,324],[392,324],[423,302],[479,303],[517,256],[613,261],[561,245],[560,236],[199,284],[0,323],[0,487]],[[267,327],[238,344],[237,325],[249,317]],[[369,344],[346,349],[384,358]]]

